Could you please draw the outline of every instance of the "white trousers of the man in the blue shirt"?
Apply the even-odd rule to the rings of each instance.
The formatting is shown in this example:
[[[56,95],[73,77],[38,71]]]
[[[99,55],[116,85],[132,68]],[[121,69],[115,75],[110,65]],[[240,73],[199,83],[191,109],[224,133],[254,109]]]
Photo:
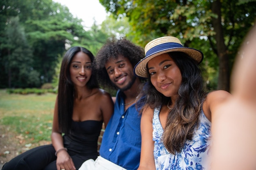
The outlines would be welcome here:
[[[98,156],[94,161],[93,159],[88,159],[85,161],[79,170],[126,170],[115,163],[108,161],[107,159]]]

